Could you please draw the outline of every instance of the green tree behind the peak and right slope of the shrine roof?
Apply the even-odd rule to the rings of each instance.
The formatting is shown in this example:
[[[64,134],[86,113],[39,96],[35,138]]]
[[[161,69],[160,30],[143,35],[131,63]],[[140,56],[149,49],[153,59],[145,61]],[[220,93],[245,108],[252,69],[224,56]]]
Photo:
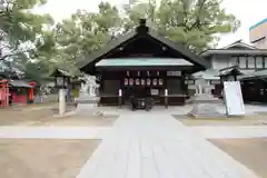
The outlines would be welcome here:
[[[137,3],[127,12],[127,30],[137,24],[139,17],[152,19],[152,28],[160,36],[181,42],[200,52],[217,44],[218,34],[236,31],[240,21],[221,8],[222,0],[162,0]],[[141,10],[140,10],[141,9]]]

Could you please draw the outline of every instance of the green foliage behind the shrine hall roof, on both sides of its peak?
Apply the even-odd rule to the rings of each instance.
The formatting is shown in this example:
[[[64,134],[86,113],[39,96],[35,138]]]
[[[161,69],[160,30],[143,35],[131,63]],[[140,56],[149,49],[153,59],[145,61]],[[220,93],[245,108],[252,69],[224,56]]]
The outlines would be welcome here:
[[[116,7],[101,2],[99,12],[78,10],[57,26],[57,61],[75,66],[118,34],[132,30],[140,18],[149,19],[150,28],[160,36],[200,52],[217,43],[217,34],[236,31],[240,26],[220,3],[219,0],[164,0],[156,7],[156,1],[150,0],[127,6],[119,13]]]

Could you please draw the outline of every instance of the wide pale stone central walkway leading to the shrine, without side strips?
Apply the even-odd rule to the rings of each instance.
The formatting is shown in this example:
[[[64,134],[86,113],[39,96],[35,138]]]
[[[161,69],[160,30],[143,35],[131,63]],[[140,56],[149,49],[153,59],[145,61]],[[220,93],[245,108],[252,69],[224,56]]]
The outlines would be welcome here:
[[[77,178],[254,178],[168,113],[121,115]]]

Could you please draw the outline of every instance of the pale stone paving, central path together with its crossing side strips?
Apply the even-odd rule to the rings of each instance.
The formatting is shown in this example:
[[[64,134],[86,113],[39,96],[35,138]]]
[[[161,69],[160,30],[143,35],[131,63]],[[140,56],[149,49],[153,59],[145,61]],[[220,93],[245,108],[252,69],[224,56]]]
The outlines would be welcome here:
[[[256,177],[206,138],[267,137],[267,126],[187,127],[171,116],[186,109],[117,110],[112,127],[0,127],[0,138],[102,139],[77,178]]]

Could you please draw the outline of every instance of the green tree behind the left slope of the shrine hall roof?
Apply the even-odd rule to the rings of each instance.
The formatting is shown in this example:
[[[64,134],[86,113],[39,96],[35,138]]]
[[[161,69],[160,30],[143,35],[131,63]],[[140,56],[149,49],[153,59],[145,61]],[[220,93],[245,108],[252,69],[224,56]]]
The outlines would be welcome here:
[[[108,2],[98,6],[99,12],[78,10],[56,28],[55,61],[77,73],[76,65],[92,51],[106,46],[121,30],[119,11]]]

